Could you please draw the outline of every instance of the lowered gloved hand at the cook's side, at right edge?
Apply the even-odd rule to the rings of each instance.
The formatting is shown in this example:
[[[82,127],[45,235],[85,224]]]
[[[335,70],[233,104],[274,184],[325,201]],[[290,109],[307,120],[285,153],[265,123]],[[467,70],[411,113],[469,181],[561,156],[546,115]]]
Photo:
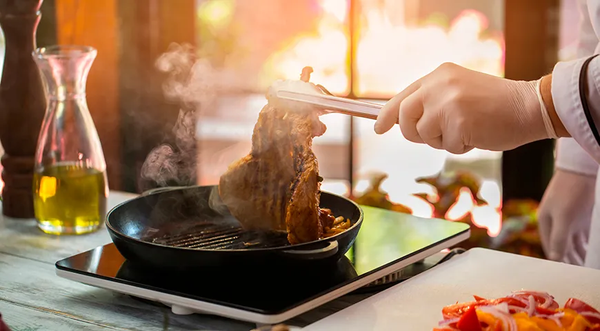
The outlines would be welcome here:
[[[583,265],[596,177],[557,169],[543,194],[539,234],[548,259]]]

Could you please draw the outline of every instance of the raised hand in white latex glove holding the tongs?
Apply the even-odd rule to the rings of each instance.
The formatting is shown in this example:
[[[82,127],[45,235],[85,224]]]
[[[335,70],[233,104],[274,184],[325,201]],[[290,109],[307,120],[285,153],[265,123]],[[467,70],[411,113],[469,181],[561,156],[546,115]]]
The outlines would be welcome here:
[[[409,141],[454,154],[473,148],[511,150],[552,136],[536,83],[444,63],[388,101],[374,130],[382,134],[399,123]]]

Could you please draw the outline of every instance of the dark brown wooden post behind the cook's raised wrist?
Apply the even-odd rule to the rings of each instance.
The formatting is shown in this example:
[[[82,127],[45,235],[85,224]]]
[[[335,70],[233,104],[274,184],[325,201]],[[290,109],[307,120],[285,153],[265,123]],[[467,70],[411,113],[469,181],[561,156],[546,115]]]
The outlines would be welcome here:
[[[505,0],[505,77],[539,79],[558,61],[559,0]],[[535,141],[503,153],[503,200],[540,201],[552,177],[554,141]]]

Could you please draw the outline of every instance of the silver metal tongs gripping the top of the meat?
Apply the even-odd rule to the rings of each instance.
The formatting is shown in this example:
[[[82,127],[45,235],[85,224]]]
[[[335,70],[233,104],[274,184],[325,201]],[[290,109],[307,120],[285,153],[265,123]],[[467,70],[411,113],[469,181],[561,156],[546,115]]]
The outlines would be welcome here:
[[[317,85],[317,88],[319,88],[323,94],[279,90],[277,91],[277,97],[290,101],[308,103],[312,106],[317,106],[326,112],[339,112],[341,114],[363,117],[365,119],[377,119],[377,115],[383,107],[377,103],[336,97],[321,85]]]

